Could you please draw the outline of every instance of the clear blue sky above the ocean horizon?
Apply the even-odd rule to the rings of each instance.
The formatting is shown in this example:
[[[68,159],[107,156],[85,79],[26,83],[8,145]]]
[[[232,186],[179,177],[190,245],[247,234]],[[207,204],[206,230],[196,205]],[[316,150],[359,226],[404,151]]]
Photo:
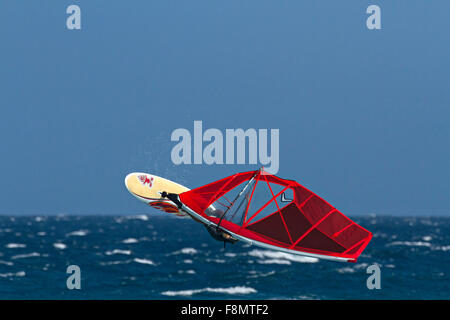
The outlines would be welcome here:
[[[66,29],[67,6],[82,30]],[[382,30],[366,28],[377,4]],[[0,4],[0,214],[151,212],[146,171],[196,187],[176,128],[277,128],[278,175],[348,215],[450,215],[449,1]]]

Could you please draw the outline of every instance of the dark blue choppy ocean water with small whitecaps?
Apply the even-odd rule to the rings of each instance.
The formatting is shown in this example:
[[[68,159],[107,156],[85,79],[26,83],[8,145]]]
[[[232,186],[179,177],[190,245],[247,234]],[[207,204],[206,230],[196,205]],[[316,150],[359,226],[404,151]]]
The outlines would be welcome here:
[[[224,249],[167,215],[0,216],[0,299],[450,299],[450,218],[353,219],[374,234],[357,263]],[[374,263],[380,290],[366,286]]]

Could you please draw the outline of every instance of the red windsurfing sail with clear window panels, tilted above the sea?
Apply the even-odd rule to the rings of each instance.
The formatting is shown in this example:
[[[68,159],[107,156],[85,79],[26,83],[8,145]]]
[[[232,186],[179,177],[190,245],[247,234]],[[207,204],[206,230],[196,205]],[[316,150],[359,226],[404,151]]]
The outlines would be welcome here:
[[[239,240],[288,253],[356,262],[372,233],[298,182],[257,170],[179,195],[184,210]]]

